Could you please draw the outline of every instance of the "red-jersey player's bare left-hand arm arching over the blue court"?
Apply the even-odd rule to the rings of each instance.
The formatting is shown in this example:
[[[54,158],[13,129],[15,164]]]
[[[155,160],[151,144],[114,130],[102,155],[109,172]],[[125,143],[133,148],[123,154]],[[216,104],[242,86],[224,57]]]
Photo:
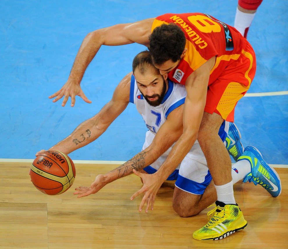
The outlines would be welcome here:
[[[134,42],[148,46],[153,21],[154,18],[150,18],[135,23],[117,24],[89,33],[82,41],[67,82],[49,98],[56,97],[53,100],[53,102],[56,102],[64,96],[62,106],[65,106],[68,98],[71,97],[71,106],[73,107],[76,95],[80,96],[85,102],[91,103],[83,93],[80,82],[99,48],[102,45],[118,46]]]

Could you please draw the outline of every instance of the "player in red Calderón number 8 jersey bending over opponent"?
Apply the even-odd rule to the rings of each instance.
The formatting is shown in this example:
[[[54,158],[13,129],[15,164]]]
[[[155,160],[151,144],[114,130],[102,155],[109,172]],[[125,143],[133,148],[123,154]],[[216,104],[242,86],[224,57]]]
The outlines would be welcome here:
[[[218,209],[193,238],[211,240],[245,228],[247,222],[234,199],[231,160],[218,136],[223,120],[234,121],[234,108],[249,89],[256,70],[253,48],[233,27],[202,13],[165,14],[129,24],[118,24],[89,33],[79,49],[68,81],[49,98],[56,102],[75,95],[90,102],[80,87],[83,74],[102,45],[130,43],[147,46],[162,75],[184,84],[183,134],[160,169],[140,175],[145,193],[139,210],[153,208],[155,196],[198,138],[215,183]]]

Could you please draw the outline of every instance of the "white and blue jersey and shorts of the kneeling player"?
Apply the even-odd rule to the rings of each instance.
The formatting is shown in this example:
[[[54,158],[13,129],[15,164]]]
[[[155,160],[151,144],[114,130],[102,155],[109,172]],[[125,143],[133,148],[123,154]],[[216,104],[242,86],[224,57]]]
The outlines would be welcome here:
[[[146,138],[142,150],[146,149],[153,141],[161,125],[167,120],[169,113],[181,106],[186,97],[185,86],[175,84],[168,80],[168,89],[161,104],[153,107],[145,100],[138,89],[135,77],[131,76],[129,102],[136,104],[138,112],[142,115],[147,128]],[[227,136],[229,122],[223,122],[219,136],[224,141]],[[155,173],[166,160],[173,145],[165,151],[154,163],[144,168],[148,174]],[[177,180],[176,180],[177,179]],[[176,180],[175,186],[191,194],[203,194],[211,181],[211,174],[207,167],[205,156],[198,140],[178,165],[167,180]]]

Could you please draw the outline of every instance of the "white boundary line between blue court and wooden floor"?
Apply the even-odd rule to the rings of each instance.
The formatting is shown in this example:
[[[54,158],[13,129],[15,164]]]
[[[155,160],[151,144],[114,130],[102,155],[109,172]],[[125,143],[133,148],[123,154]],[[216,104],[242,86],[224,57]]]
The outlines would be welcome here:
[[[10,159],[10,158],[0,158],[0,163],[33,163],[34,159]],[[116,164],[121,165],[126,163],[126,161],[97,161],[97,160],[73,160],[74,163],[81,164]],[[234,163],[233,163],[234,164]],[[286,168],[288,169],[288,164],[269,164],[273,168]]]

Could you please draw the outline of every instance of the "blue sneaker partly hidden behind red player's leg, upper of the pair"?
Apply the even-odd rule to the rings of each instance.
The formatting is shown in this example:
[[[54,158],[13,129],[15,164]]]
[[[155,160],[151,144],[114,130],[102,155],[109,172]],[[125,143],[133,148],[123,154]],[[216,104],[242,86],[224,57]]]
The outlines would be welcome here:
[[[234,158],[235,162],[237,162],[239,156],[241,156],[244,151],[244,147],[240,140],[241,140],[241,133],[239,129],[234,123],[230,122],[228,134],[225,141],[227,151]]]

